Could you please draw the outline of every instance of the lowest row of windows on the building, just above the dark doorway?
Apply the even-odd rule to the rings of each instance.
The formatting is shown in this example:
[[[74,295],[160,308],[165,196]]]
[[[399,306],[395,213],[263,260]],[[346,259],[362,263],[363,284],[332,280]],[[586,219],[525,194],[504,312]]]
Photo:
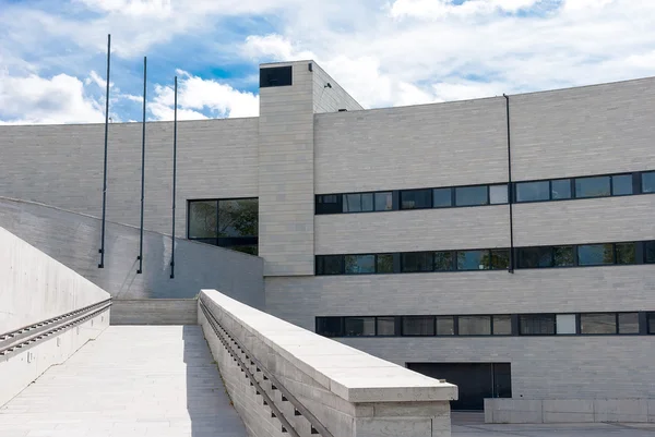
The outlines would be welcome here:
[[[655,313],[317,317],[325,337],[655,335]]]

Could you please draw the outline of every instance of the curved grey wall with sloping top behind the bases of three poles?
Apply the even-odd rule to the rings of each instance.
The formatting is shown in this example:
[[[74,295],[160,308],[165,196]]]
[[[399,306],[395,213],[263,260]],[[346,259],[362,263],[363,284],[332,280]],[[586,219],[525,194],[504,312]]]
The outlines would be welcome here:
[[[207,244],[143,233],[143,274],[136,275],[139,228],[106,226],[105,268],[98,268],[100,219],[46,205],[0,197],[0,226],[72,268],[114,299],[188,299],[217,289],[248,305],[264,305],[263,259]]]

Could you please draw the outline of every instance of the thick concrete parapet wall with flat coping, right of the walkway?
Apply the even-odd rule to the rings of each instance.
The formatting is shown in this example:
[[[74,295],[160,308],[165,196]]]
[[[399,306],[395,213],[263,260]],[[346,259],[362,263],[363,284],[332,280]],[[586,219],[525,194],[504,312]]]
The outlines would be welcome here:
[[[283,399],[282,390],[334,437],[451,435],[450,400],[456,399],[455,386],[318,336],[215,290],[203,290],[199,305],[199,323],[252,436],[283,436],[283,422],[230,356],[202,305],[242,344],[239,359],[300,436],[311,435],[308,418],[295,413],[294,399]],[[263,377],[266,374],[269,378]],[[273,388],[274,384],[283,388]]]

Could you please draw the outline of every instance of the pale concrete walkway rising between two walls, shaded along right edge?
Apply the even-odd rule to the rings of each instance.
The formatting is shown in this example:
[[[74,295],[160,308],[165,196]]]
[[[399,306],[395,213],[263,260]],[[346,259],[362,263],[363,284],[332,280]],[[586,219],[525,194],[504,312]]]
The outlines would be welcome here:
[[[246,437],[199,326],[111,326],[0,408],[2,437]]]

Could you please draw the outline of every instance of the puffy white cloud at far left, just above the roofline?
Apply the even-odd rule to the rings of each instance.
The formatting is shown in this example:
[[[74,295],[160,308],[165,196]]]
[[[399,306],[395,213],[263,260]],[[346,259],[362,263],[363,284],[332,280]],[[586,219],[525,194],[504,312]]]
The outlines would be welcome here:
[[[83,83],[58,74],[44,78],[32,74],[12,77],[0,73],[2,124],[104,122],[102,106],[86,95]]]

